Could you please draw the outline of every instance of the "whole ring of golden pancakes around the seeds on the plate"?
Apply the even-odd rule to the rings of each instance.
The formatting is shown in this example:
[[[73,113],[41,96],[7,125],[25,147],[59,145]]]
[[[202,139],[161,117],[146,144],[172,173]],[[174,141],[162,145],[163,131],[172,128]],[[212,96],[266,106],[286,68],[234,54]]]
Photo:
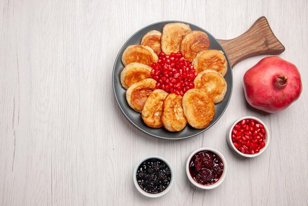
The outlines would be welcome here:
[[[183,23],[166,24],[162,33],[150,31],[140,45],[128,46],[122,55],[125,66],[121,84],[126,91],[129,106],[142,114],[146,125],[164,127],[168,131],[181,131],[187,122],[190,126],[206,128],[214,118],[215,103],[220,103],[227,91],[224,75],[227,60],[222,51],[209,49],[210,40],[201,31],[191,31]],[[157,63],[160,52],[170,55],[181,51],[191,62],[198,76],[194,89],[184,96],[155,89],[151,78],[151,65]]]

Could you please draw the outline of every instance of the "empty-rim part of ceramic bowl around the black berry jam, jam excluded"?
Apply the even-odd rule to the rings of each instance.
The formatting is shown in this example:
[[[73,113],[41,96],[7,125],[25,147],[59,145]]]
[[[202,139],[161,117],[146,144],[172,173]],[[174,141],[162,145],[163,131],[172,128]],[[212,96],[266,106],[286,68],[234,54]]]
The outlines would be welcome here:
[[[146,161],[146,160],[148,160],[148,159],[153,159],[153,158],[154,158],[154,159],[159,159],[159,160],[165,162],[165,163],[167,164],[167,166],[169,167],[170,172],[171,172],[171,179],[170,179],[170,183],[169,183],[168,187],[167,187],[164,191],[162,191],[162,192],[160,192],[160,193],[156,193],[156,194],[151,194],[151,193],[148,193],[148,192],[144,191],[143,189],[141,189],[141,187],[139,186],[139,184],[138,184],[138,182],[137,182],[137,170],[138,170],[139,166],[140,166],[144,161]],[[134,170],[133,179],[134,179],[134,183],[135,183],[135,186],[136,186],[137,190],[138,190],[141,194],[143,194],[144,196],[150,197],[150,198],[158,198],[158,197],[161,197],[161,196],[165,195],[165,194],[166,194],[167,192],[169,192],[169,190],[171,189],[171,187],[172,187],[172,185],[173,185],[173,182],[174,182],[174,172],[173,172],[173,169],[172,169],[170,163],[169,163],[167,160],[165,160],[164,158],[159,157],[159,156],[149,156],[149,157],[146,157],[146,158],[143,158],[142,160],[140,160],[140,162],[136,165],[135,170]]]

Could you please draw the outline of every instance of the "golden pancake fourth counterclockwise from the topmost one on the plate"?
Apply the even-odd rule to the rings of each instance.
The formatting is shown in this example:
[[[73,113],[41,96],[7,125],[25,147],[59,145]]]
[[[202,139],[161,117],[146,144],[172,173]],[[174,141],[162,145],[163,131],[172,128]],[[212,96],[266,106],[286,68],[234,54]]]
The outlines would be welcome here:
[[[126,90],[126,100],[131,108],[140,112],[143,109],[148,97],[155,89],[156,81],[154,79],[141,80]]]

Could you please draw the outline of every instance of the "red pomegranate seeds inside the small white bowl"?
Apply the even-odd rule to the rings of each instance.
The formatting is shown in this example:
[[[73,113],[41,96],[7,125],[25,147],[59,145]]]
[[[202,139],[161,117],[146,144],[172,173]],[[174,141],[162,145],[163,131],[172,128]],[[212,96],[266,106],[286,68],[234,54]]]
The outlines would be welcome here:
[[[242,153],[259,153],[265,146],[264,126],[256,120],[243,119],[232,130],[232,142]]]

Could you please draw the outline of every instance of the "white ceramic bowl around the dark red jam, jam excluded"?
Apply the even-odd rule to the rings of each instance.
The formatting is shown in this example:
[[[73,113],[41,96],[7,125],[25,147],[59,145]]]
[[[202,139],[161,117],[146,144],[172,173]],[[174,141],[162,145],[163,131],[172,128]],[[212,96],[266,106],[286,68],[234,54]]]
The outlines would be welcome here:
[[[214,184],[211,184],[211,185],[202,185],[202,184],[199,184],[198,182],[196,182],[190,175],[190,172],[189,172],[189,163],[190,163],[190,160],[192,158],[193,155],[195,155],[196,153],[198,152],[201,152],[201,151],[211,151],[215,154],[217,154],[221,160],[222,160],[222,163],[223,163],[223,172],[220,176],[220,178],[218,179],[217,182],[215,182]],[[226,162],[226,159],[224,158],[224,156],[218,152],[216,149],[212,149],[212,148],[209,148],[209,147],[202,147],[202,148],[199,148],[199,149],[196,149],[195,151],[193,151],[188,159],[187,159],[187,162],[186,162],[186,174],[187,174],[187,177],[189,179],[189,181],[195,185],[196,187],[199,187],[201,189],[206,189],[206,190],[210,190],[210,189],[214,189],[216,187],[218,187],[224,180],[224,178],[226,177],[226,173],[227,173],[227,162]]]

